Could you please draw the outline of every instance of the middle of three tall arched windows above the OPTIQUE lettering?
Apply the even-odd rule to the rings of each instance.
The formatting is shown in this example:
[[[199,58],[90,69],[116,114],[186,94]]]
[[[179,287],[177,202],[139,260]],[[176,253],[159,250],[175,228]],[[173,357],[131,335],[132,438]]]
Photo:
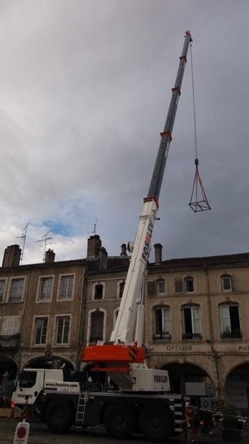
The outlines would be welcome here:
[[[183,308],[183,339],[201,338],[200,307]]]

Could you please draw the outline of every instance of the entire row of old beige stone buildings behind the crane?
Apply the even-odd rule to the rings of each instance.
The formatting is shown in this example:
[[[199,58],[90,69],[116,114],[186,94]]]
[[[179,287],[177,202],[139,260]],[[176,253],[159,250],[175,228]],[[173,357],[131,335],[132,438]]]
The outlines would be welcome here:
[[[0,268],[0,373],[59,360],[80,368],[82,345],[108,341],[129,256],[109,257],[98,235],[85,259],[19,265],[18,246]],[[172,391],[212,382],[243,409],[249,393],[249,253],[162,260],[147,266],[145,348],[149,366],[169,371]]]

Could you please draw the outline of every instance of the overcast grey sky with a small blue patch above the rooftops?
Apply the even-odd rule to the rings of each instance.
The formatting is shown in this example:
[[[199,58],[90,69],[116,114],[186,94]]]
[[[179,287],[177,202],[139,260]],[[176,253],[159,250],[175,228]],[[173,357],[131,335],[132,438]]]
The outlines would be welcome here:
[[[190,29],[199,171],[212,207],[195,214],[190,53],[152,244],[163,258],[248,245],[248,0],[0,0],[0,254],[42,262],[109,255],[133,240],[184,35]],[[154,253],[151,253],[154,261]]]

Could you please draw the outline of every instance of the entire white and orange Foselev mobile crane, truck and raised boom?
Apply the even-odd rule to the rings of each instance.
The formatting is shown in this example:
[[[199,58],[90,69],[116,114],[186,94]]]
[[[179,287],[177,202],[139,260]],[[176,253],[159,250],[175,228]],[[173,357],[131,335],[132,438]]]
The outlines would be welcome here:
[[[89,380],[86,370],[64,380],[63,370],[26,368],[12,395],[12,406],[26,406],[26,411],[39,414],[55,433],[64,433],[71,425],[82,428],[104,424],[115,438],[141,432],[148,440],[164,442],[181,432],[184,398],[169,393],[167,371],[147,368],[142,336],[151,235],[190,42],[187,31],[136,240],[133,246],[129,244],[133,251],[116,325],[109,343],[82,350],[82,361],[91,366],[93,377]]]

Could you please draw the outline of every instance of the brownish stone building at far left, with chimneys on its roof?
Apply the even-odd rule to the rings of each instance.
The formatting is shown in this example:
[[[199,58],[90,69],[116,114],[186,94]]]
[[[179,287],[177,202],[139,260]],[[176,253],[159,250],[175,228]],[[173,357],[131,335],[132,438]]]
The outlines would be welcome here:
[[[19,252],[19,255],[15,254]],[[0,370],[80,359],[84,260],[19,265],[19,246],[6,248],[0,268]],[[1,372],[1,373],[2,373]]]

